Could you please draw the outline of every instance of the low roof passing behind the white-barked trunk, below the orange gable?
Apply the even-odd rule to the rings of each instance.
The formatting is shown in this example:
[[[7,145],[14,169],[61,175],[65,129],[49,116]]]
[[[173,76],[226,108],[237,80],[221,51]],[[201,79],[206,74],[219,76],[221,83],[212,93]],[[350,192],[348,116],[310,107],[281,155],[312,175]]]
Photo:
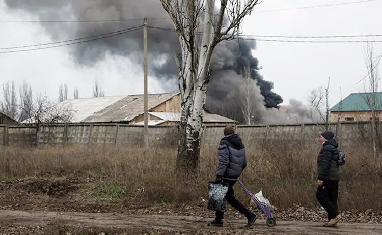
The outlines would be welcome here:
[[[150,115],[156,116],[161,120],[168,120],[170,122],[180,122],[179,112],[149,112]],[[203,112],[204,123],[236,123],[235,120],[228,119],[227,117]]]

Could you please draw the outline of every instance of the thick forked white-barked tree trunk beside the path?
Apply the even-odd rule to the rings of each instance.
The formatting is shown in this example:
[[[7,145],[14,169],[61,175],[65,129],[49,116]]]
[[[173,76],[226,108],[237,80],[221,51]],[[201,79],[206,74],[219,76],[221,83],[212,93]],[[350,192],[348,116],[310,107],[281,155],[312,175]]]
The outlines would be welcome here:
[[[192,3],[192,4],[191,4]],[[189,1],[189,6],[185,7],[186,12],[183,20],[187,20],[187,27],[194,24],[193,13],[194,1]],[[213,36],[213,6],[214,0],[206,4],[204,18],[203,38],[200,47],[200,54],[195,36],[191,33],[192,28],[186,28],[185,37],[179,35],[180,47],[182,50],[182,67],[180,70],[179,87],[182,98],[182,111],[179,125],[179,143],[177,156],[178,175],[184,177],[198,177],[200,140],[203,124],[203,110],[206,100],[207,84],[209,81],[209,66],[212,56],[214,42]],[[189,45],[187,43],[190,43]],[[188,45],[188,46],[187,46]]]

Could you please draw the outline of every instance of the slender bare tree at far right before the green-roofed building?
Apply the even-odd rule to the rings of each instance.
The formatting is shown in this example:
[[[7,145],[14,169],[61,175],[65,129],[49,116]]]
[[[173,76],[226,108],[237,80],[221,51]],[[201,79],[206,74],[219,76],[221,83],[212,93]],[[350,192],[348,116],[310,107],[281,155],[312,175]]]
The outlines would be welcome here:
[[[382,107],[382,100],[378,99],[378,85],[379,85],[379,74],[378,67],[380,61],[382,60],[382,55],[376,55],[374,52],[374,46],[370,43],[367,43],[365,49],[365,62],[368,75],[365,78],[368,78],[364,81],[364,99],[371,111],[371,136],[373,142],[373,153],[374,158],[378,159],[378,149],[380,141],[378,140],[378,125],[379,123],[379,111]]]

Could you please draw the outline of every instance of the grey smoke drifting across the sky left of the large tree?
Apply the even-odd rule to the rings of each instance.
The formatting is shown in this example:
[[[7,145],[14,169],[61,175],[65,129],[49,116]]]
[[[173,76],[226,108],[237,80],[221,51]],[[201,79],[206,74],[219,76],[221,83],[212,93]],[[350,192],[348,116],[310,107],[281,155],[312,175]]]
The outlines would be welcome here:
[[[5,0],[5,3],[10,9],[31,12],[37,15],[41,21],[168,18],[160,1],[157,0]],[[142,24],[143,20],[41,23],[53,40],[99,35]],[[170,19],[151,20],[149,24],[150,26],[173,28]],[[129,57],[135,63],[142,63],[142,38],[143,32],[138,30],[68,48],[76,62],[81,65],[92,66],[96,62],[104,60],[107,53]],[[161,62],[163,62],[150,63],[151,73],[165,79],[171,78],[169,75],[176,74],[177,67],[172,54],[179,50],[178,44],[175,33],[150,30],[149,58],[154,61],[156,58],[162,58]]]

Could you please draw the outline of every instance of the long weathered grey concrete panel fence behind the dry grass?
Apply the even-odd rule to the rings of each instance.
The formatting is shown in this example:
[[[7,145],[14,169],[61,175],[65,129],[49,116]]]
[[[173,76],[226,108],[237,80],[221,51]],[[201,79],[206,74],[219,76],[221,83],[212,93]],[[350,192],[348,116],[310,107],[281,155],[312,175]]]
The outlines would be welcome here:
[[[382,127],[378,124],[378,134]],[[223,138],[224,126],[204,127],[201,132],[201,148],[216,148]],[[275,148],[280,145],[310,148],[326,129],[324,124],[237,126],[245,146],[255,150]],[[341,147],[354,144],[369,145],[372,141],[370,122],[343,122],[330,124]],[[38,133],[36,133],[38,130]],[[149,127],[151,147],[175,147],[179,139],[177,126]],[[126,124],[51,124],[36,126],[0,126],[0,146],[45,146],[45,145],[117,145],[143,146],[144,128]]]

